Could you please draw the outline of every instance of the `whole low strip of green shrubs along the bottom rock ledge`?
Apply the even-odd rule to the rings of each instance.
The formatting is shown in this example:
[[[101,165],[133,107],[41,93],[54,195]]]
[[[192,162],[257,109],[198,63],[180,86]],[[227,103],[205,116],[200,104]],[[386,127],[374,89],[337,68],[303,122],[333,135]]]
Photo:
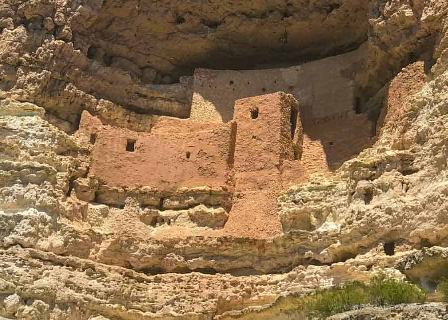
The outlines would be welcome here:
[[[444,287],[447,290],[448,281]],[[398,305],[425,302],[427,293],[416,285],[388,278],[384,274],[373,277],[369,284],[348,282],[326,290],[318,290],[308,297],[303,308],[311,319],[326,319],[359,305]]]

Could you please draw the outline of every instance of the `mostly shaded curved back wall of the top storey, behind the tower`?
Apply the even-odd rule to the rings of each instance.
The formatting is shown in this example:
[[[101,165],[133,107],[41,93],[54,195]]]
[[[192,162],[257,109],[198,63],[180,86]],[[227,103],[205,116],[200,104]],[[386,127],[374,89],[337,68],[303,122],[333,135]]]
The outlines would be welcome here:
[[[234,102],[278,91],[292,94],[306,120],[333,116],[354,109],[354,70],[365,48],[326,59],[281,69],[197,69],[191,118],[199,121],[229,121]]]

